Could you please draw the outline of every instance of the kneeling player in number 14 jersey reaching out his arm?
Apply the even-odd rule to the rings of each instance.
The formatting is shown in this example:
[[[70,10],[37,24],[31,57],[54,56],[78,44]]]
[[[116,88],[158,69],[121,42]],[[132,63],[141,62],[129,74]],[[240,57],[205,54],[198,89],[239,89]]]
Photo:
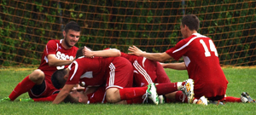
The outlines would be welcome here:
[[[200,20],[194,14],[187,14],[183,16],[180,25],[183,40],[173,48],[164,53],[146,53],[136,46],[129,47],[128,50],[132,55],[160,62],[172,58],[179,60],[183,57],[189,78],[195,82],[194,103],[203,96],[209,101],[220,101],[224,99],[228,81],[219,65],[217,49],[212,39],[198,33],[199,27]]]

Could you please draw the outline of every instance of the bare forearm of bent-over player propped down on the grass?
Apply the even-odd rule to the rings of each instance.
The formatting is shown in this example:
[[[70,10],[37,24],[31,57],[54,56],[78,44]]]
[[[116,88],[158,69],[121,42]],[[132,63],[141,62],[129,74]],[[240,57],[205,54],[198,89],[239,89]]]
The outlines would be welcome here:
[[[69,95],[69,92],[73,89],[75,84],[65,84],[64,87],[61,89],[60,93],[56,96],[55,101],[53,101],[53,104],[59,104],[61,101],[64,101],[64,99]]]

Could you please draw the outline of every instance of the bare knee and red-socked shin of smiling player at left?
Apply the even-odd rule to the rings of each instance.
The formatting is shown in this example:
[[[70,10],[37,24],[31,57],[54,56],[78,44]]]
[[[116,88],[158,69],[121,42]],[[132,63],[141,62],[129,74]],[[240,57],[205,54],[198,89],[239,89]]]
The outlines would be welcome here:
[[[9,95],[9,99],[11,101],[15,101],[15,99],[22,95],[23,93],[26,93],[35,84],[43,83],[44,81],[44,72],[37,69],[34,72],[32,72],[30,75],[28,75],[26,78],[24,78],[20,83],[17,84],[15,89],[12,91],[12,93]]]

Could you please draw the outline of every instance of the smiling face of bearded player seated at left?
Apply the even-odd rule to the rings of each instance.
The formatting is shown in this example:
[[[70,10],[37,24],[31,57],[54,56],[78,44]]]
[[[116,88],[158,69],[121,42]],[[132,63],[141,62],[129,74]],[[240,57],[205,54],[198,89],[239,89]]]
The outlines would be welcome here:
[[[65,31],[63,32],[63,36],[64,36],[64,42],[66,43],[67,47],[70,48],[70,47],[73,47],[76,43],[78,43],[80,32],[68,30],[67,33]]]

